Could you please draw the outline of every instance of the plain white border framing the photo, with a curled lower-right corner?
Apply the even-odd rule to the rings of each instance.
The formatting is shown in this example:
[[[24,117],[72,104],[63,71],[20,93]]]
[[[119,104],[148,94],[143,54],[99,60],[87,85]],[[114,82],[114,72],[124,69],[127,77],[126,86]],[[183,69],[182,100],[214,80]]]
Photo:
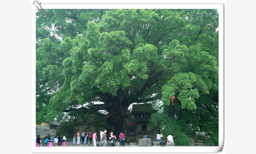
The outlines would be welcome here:
[[[220,152],[224,144],[224,5],[223,4],[44,4],[44,9],[218,9],[219,13],[219,146],[166,147],[36,147],[36,5],[31,4],[31,152],[86,152],[86,153],[164,153],[164,152]]]

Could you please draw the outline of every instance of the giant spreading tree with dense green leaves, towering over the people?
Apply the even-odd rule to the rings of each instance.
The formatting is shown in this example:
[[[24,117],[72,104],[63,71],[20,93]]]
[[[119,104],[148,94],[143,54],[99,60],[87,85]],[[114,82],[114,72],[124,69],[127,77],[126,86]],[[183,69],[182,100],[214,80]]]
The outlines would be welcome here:
[[[119,134],[130,104],[169,106],[172,96],[177,120],[198,109],[218,115],[217,9],[46,14],[36,19],[36,123],[62,120],[64,111],[84,105],[106,110]]]

